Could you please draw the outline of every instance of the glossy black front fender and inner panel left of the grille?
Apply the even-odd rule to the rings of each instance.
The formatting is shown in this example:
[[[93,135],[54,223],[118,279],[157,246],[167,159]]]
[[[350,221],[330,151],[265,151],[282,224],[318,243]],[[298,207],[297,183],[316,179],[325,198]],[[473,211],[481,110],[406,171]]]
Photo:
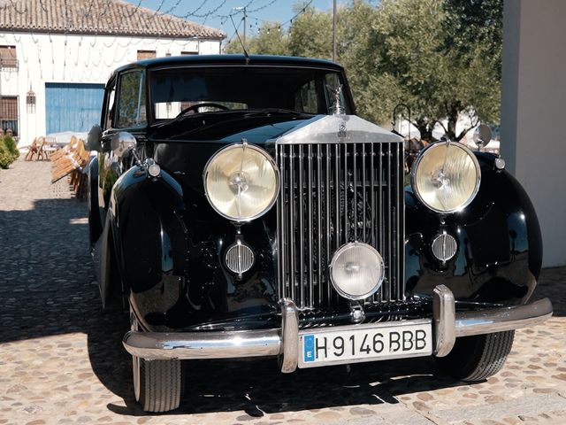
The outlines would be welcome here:
[[[120,274],[145,330],[171,331],[276,312],[275,212],[241,227],[256,262],[239,278],[222,260],[236,228],[211,211],[202,193],[163,168],[156,179],[137,166],[120,176],[110,209]]]

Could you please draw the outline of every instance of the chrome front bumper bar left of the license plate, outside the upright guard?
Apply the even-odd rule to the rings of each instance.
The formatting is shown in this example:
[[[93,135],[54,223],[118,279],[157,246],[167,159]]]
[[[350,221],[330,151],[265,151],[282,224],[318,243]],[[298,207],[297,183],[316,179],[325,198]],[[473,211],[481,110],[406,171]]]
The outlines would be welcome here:
[[[142,359],[232,359],[277,356],[279,329],[232,332],[139,332],[122,341],[126,351]]]

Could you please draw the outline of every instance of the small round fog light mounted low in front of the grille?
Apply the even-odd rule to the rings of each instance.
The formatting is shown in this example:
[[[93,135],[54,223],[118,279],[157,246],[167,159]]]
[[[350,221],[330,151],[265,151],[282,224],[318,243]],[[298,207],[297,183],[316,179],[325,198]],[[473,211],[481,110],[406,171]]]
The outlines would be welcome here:
[[[374,294],[384,277],[383,259],[367,243],[348,243],[334,253],[330,279],[338,293],[348,299],[363,299]]]

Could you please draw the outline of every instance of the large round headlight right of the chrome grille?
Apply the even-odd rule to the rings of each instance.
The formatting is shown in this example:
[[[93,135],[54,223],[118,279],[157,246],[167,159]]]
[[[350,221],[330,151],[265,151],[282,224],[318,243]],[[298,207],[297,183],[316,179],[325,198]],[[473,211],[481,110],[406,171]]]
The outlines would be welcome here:
[[[462,143],[434,143],[413,164],[411,182],[420,201],[437,213],[455,213],[478,193],[478,159]]]

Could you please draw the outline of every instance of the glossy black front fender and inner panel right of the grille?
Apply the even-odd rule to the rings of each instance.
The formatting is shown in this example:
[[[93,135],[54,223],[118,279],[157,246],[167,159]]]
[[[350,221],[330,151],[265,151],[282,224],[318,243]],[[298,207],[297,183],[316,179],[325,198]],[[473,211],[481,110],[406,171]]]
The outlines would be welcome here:
[[[524,304],[532,295],[542,263],[539,221],[516,179],[478,154],[482,182],[474,201],[444,218],[406,191],[406,288],[431,295],[440,283],[462,303]],[[444,224],[442,224],[444,222]],[[432,239],[446,231],[458,248],[446,263],[432,256]]]

